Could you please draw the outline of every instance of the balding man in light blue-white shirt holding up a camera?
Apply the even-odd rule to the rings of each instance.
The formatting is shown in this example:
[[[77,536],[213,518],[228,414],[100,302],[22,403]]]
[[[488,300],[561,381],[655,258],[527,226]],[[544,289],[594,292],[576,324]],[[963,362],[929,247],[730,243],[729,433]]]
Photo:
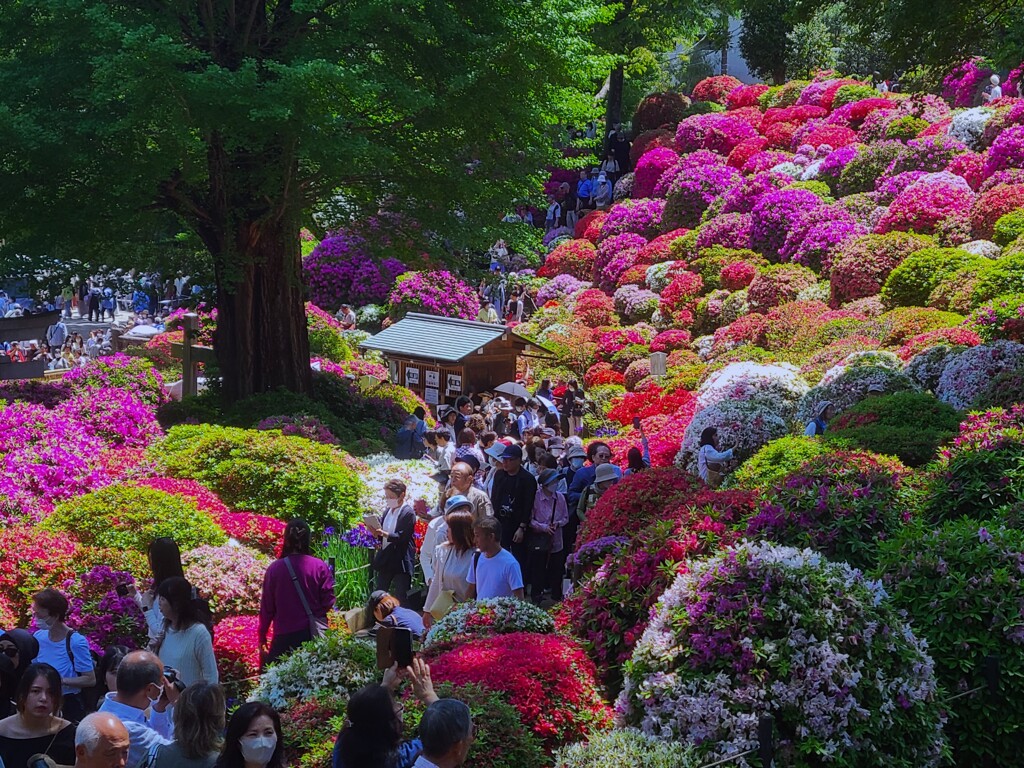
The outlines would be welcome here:
[[[164,677],[164,665],[155,654],[135,650],[118,667],[118,689],[108,693],[99,712],[117,715],[131,738],[128,765],[138,766],[150,750],[174,740],[170,708],[178,689]],[[150,717],[145,716],[151,710]]]

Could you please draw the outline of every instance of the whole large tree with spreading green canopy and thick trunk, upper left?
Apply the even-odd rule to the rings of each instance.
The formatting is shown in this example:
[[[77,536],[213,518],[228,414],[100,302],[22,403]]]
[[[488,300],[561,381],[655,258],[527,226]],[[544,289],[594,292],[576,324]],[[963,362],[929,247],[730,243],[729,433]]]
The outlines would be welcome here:
[[[493,221],[585,103],[588,0],[8,0],[0,232],[101,260],[168,215],[216,275],[229,398],[308,390],[300,221]],[[531,176],[531,172],[535,174]]]

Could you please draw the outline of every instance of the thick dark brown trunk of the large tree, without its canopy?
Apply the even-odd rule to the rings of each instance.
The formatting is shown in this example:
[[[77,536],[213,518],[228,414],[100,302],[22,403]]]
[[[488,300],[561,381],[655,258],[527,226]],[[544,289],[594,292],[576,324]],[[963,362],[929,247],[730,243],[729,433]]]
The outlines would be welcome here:
[[[296,164],[278,148],[226,152],[211,137],[204,240],[217,279],[214,347],[224,398],[279,387],[312,391],[297,207],[288,201]],[[261,190],[269,190],[266,198]]]

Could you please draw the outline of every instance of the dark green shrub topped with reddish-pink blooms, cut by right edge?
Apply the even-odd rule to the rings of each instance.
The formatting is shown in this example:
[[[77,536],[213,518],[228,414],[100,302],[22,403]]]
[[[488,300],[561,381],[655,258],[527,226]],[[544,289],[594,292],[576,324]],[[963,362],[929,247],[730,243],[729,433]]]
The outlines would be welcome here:
[[[1024,406],[971,414],[929,478],[922,509],[931,522],[1019,518],[1024,498]],[[1018,512],[1013,512],[1018,508]],[[1018,527],[1020,522],[1016,523]]]

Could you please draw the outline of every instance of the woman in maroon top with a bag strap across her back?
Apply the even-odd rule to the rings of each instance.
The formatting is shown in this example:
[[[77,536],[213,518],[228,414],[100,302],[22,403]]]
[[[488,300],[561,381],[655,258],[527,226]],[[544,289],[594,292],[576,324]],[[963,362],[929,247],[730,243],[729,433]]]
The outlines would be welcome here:
[[[334,574],[326,562],[309,554],[310,536],[305,520],[289,521],[281,557],[263,575],[259,647],[264,669],[312,639],[334,607]],[[268,644],[271,627],[273,641]]]

